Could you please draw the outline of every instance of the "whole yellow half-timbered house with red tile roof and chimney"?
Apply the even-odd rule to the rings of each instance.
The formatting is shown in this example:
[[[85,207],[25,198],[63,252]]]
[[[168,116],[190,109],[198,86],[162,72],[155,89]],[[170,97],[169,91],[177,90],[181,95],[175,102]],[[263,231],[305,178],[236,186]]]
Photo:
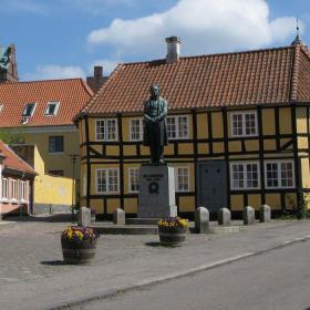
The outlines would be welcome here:
[[[308,48],[297,40],[179,58],[179,40],[166,41],[166,59],[118,65],[75,117],[82,205],[136,213],[138,172],[149,159],[142,110],[156,83],[169,103],[165,161],[175,167],[182,215],[198,206],[294,208],[298,194],[310,192]]]

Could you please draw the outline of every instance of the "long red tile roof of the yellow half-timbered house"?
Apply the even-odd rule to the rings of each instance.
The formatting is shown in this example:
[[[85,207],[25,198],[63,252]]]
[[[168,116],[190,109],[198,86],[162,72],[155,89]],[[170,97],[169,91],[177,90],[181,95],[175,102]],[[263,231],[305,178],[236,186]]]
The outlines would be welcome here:
[[[121,64],[81,114],[141,112],[153,83],[170,110],[310,101],[310,56],[286,46]]]

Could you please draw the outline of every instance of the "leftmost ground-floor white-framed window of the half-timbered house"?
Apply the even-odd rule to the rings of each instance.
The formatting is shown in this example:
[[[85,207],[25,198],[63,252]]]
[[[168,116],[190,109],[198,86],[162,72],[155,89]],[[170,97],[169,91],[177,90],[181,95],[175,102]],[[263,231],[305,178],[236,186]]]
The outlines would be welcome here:
[[[117,168],[96,169],[96,192],[97,193],[118,192]]]

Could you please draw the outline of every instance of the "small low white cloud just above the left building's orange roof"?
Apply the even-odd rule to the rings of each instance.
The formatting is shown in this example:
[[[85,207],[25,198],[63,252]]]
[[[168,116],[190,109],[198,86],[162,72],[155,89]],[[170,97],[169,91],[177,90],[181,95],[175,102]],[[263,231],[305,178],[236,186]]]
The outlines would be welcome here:
[[[71,79],[85,78],[84,71],[80,66],[61,66],[55,64],[46,64],[37,66],[35,72],[27,73],[22,80],[53,80],[53,79]]]

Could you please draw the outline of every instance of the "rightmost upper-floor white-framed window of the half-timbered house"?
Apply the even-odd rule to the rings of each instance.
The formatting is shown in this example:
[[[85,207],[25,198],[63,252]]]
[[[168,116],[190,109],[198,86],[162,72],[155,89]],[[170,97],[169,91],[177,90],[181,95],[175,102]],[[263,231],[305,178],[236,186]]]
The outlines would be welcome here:
[[[231,136],[256,136],[258,134],[255,111],[231,113],[230,123]]]

